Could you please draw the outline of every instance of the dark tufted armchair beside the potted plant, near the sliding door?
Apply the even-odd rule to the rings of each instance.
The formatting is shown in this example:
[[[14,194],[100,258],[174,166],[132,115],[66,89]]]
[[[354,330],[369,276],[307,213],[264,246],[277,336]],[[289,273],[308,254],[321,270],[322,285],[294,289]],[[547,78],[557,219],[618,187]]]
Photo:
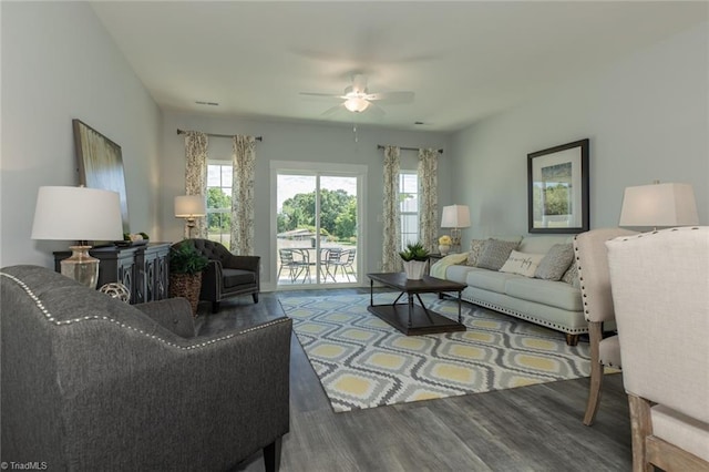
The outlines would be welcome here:
[[[219,310],[219,301],[238,295],[251,295],[258,302],[260,291],[259,256],[235,256],[224,245],[209,239],[185,239],[175,244],[192,244],[209,265],[202,271],[199,299],[212,301],[212,312]]]

